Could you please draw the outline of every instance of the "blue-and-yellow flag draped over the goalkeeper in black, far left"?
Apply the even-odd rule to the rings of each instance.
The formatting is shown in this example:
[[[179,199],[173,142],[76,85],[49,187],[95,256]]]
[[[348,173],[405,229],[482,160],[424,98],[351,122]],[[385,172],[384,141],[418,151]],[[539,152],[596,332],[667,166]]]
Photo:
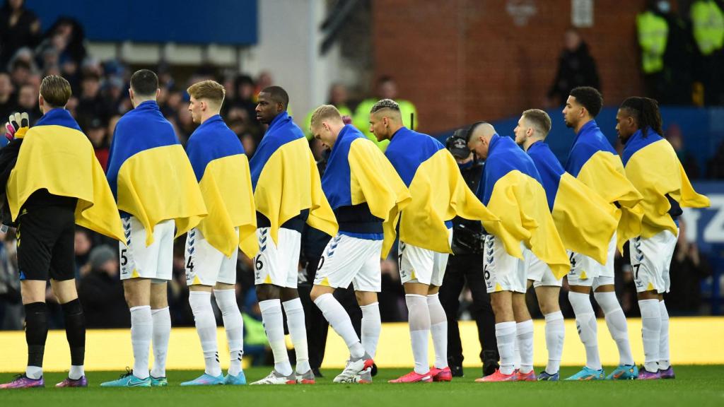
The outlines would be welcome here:
[[[7,182],[12,219],[17,219],[30,195],[44,188],[53,195],[78,199],[77,225],[125,242],[101,164],[70,112],[51,109],[22,137],[17,164]]]

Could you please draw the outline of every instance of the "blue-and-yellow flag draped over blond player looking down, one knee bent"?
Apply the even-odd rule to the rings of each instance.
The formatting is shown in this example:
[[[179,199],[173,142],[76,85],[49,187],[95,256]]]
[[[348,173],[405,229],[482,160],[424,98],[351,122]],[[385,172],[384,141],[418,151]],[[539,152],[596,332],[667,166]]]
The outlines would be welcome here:
[[[366,203],[374,217],[382,219],[382,257],[392,248],[395,227],[410,192],[382,151],[352,125],[337,136],[321,180],[332,209]]]

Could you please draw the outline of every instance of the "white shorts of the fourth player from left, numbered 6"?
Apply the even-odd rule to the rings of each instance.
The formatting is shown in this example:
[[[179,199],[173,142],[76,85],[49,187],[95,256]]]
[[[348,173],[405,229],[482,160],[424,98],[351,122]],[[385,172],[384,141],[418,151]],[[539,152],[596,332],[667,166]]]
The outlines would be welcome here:
[[[279,227],[277,246],[269,230],[270,227],[259,227],[256,230],[259,253],[254,258],[254,284],[297,288],[302,235],[296,230]]]

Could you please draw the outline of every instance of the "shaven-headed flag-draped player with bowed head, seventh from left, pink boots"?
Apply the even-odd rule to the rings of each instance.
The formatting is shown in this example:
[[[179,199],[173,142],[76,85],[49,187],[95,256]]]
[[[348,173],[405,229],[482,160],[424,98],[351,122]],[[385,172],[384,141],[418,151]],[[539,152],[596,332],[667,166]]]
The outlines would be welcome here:
[[[568,272],[568,256],[533,160],[513,139],[497,135],[487,122],[470,127],[468,148],[485,160],[477,195],[500,217],[500,223],[483,222],[489,232],[483,273],[495,313],[500,369],[476,382],[533,381],[533,321],[526,305],[527,279],[530,273],[531,279],[552,285]],[[542,264],[531,267],[533,260]],[[552,275],[546,277],[547,268]],[[543,275],[533,277],[534,272]],[[518,372],[514,367],[516,341],[521,354]]]

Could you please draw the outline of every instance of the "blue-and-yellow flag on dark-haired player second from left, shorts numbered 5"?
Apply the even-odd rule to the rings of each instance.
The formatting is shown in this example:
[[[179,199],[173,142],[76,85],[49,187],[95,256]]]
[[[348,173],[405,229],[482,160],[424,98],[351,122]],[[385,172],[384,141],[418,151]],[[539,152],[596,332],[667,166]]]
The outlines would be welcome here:
[[[146,229],[146,246],[159,222],[174,219],[178,237],[206,216],[188,156],[155,101],[139,104],[118,121],[106,176],[118,209]]]

